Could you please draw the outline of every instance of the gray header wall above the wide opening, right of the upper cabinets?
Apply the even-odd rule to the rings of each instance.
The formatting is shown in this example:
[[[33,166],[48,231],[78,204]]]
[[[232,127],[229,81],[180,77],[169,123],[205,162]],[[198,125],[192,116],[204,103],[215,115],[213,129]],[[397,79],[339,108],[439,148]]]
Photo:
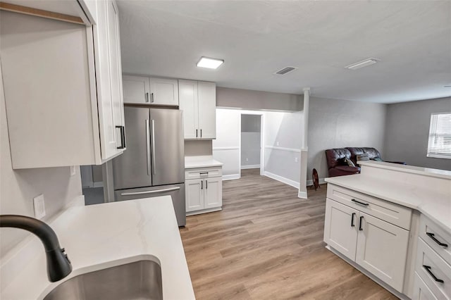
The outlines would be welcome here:
[[[295,94],[216,87],[216,106],[268,111],[302,111],[303,98]]]

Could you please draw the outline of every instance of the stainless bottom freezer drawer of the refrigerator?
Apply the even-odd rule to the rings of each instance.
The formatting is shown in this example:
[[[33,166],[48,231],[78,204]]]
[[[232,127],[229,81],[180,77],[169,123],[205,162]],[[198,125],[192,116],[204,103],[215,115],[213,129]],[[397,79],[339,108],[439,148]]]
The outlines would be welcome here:
[[[178,226],[186,225],[185,184],[161,185],[159,187],[140,187],[138,189],[119,189],[114,191],[116,201],[152,198],[170,195],[174,206]]]

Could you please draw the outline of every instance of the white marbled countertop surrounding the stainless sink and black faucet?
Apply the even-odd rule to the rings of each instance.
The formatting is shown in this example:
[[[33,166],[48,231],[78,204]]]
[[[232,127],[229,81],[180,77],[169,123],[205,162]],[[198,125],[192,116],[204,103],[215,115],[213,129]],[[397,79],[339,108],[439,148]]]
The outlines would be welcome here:
[[[74,206],[49,225],[72,262],[73,271],[64,280],[149,259],[161,265],[163,299],[195,299],[171,196]],[[33,246],[33,251],[25,251],[30,257],[24,255],[23,248],[8,257],[23,263],[8,267],[9,273],[16,274],[1,289],[2,300],[42,299],[63,282],[47,280],[44,248],[37,237],[30,238],[26,245]],[[1,275],[6,279],[8,274],[2,270]]]

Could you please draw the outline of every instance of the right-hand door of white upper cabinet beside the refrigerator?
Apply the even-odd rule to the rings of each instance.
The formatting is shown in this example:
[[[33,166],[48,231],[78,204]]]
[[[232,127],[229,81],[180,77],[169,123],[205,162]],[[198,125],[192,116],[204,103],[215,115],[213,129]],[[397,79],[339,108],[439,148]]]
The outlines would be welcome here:
[[[199,138],[216,139],[216,84],[199,81]]]

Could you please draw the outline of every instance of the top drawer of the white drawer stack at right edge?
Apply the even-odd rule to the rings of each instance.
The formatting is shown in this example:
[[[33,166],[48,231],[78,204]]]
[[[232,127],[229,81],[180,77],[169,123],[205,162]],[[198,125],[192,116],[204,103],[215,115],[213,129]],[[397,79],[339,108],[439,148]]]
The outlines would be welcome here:
[[[419,236],[451,265],[451,234],[449,232],[421,214]]]

